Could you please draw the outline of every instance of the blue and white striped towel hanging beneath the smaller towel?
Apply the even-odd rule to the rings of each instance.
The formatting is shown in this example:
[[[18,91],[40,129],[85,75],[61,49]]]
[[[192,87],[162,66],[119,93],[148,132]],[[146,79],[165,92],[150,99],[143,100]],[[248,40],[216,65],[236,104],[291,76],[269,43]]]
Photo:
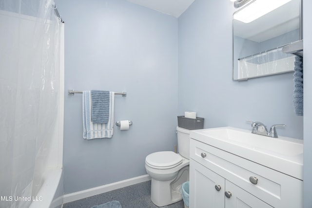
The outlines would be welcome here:
[[[110,92],[109,117],[106,124],[97,124],[91,121],[91,92],[83,91],[82,95],[82,118],[83,118],[83,138],[112,138],[114,127],[114,100],[115,93]]]

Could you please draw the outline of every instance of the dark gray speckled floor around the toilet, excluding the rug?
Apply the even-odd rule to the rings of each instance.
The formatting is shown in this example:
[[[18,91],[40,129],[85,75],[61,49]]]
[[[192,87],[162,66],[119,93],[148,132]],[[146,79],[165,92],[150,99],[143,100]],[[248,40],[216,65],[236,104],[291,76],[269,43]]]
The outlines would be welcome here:
[[[119,201],[122,208],[157,208],[151,201],[151,181],[66,203],[63,208],[91,208],[113,200]],[[184,208],[184,203],[182,200],[162,208]]]

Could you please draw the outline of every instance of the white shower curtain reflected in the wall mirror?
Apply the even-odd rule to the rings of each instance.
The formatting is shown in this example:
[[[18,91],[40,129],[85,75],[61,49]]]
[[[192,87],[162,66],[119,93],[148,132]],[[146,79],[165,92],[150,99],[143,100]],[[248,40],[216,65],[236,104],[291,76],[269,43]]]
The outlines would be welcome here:
[[[294,55],[282,52],[282,47],[238,59],[238,79],[292,72]]]

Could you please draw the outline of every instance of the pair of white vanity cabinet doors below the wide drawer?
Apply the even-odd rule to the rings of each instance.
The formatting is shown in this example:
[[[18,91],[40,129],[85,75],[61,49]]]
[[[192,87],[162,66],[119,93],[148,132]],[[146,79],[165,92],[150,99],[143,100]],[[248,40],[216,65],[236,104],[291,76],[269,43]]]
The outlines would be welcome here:
[[[272,208],[214,171],[191,161],[190,208]]]

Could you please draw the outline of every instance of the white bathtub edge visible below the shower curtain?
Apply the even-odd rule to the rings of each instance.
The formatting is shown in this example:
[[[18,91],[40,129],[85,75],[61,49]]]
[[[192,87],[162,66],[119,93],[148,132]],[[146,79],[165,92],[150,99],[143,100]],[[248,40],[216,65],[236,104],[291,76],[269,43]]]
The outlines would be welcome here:
[[[50,169],[45,172],[42,185],[29,208],[61,208],[63,203],[63,170]]]

